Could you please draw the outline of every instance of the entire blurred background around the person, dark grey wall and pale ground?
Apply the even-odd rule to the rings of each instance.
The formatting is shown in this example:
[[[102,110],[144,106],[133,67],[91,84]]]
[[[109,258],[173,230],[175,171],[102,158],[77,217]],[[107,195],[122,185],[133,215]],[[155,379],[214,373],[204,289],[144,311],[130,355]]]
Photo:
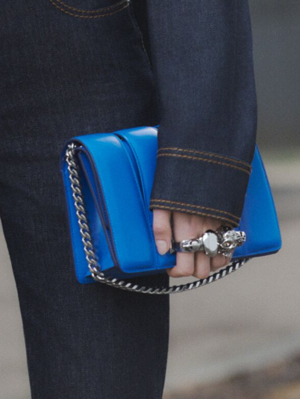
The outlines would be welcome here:
[[[250,0],[250,9],[257,143],[283,246],[214,284],[171,295],[164,399],[300,399],[300,2]],[[29,399],[2,229],[0,317],[0,399]]]

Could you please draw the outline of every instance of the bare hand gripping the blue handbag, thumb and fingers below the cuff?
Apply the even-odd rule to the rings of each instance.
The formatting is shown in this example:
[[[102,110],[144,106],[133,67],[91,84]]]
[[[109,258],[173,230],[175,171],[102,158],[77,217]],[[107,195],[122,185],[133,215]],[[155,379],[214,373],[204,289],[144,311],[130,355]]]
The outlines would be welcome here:
[[[206,230],[216,230],[219,226],[225,224],[219,219],[153,209],[153,233],[157,251],[161,255],[169,251],[171,245],[171,214],[175,241],[200,237]],[[233,227],[228,223],[226,225]],[[230,262],[231,258],[219,254],[210,258],[203,251],[177,252],[176,264],[173,268],[167,269],[167,273],[170,277],[195,276],[201,279],[207,277],[211,271],[225,267]]]

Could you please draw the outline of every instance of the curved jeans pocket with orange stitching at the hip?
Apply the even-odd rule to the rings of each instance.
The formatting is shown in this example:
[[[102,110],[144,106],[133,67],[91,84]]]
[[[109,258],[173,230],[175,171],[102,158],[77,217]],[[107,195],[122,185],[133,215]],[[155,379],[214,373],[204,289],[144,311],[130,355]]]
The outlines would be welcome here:
[[[83,19],[110,16],[129,6],[130,0],[48,0],[58,10]]]

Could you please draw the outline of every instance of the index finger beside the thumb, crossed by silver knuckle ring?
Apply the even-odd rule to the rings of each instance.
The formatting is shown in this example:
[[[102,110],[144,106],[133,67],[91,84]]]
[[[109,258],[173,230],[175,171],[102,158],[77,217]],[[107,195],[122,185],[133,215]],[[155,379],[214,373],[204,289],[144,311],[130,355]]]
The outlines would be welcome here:
[[[201,231],[199,217],[183,212],[173,212],[173,234],[175,241],[196,237]],[[167,269],[170,277],[191,276],[195,269],[195,254],[193,252],[177,252],[176,264]]]

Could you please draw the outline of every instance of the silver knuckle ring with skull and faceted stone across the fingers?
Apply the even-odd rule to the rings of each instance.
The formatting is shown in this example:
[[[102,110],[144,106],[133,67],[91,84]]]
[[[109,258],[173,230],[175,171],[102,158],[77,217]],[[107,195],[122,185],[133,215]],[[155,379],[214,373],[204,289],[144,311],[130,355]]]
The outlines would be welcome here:
[[[169,253],[204,251],[209,257],[218,254],[231,257],[235,248],[246,240],[243,231],[233,230],[232,227],[222,225],[216,231],[207,230],[203,236],[175,242],[171,241]]]

